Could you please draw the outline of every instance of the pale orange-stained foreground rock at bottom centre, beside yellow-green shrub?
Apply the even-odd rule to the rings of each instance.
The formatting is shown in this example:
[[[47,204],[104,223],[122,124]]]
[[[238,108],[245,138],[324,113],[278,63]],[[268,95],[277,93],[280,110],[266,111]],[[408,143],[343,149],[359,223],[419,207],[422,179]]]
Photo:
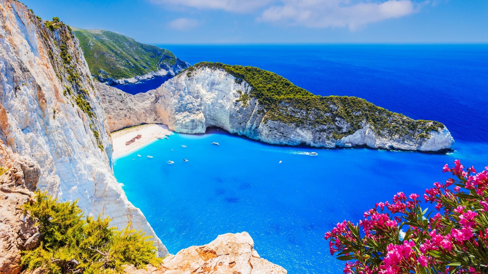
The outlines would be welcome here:
[[[259,256],[247,232],[219,235],[209,244],[185,248],[166,257],[158,270],[152,266],[147,270],[128,266],[125,271],[134,274],[286,274],[283,267]]]

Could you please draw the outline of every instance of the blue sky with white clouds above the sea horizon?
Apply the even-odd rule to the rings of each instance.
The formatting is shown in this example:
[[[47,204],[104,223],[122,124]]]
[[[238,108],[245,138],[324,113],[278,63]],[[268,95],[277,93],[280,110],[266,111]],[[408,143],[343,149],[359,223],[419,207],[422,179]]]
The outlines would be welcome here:
[[[22,0],[157,44],[488,43],[488,0]]]

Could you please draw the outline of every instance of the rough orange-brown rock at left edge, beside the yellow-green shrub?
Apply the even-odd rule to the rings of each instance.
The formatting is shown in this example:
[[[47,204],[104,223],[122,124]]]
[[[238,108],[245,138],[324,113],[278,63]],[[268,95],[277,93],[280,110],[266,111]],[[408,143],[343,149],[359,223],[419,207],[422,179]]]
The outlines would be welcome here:
[[[34,249],[40,242],[38,228],[21,206],[34,195],[41,170],[29,157],[3,158],[1,164],[9,170],[0,176],[0,273],[17,274],[20,252]]]

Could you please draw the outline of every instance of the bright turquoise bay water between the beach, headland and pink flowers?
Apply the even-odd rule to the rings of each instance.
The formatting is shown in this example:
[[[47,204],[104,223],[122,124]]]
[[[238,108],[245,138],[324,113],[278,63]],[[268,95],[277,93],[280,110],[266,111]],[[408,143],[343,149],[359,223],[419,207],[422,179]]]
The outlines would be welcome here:
[[[258,253],[290,274],[339,274],[343,264],[329,254],[324,233],[398,191],[422,193],[446,179],[442,166],[456,158],[486,164],[487,145],[458,148],[433,155],[271,146],[214,129],[157,140],[117,159],[114,171],[170,253],[247,231]],[[319,155],[307,155],[313,151]]]

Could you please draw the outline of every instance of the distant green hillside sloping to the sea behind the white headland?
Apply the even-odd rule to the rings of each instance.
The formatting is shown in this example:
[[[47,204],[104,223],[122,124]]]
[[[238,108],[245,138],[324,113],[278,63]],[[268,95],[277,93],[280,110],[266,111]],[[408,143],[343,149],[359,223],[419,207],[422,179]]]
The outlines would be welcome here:
[[[75,27],[73,31],[80,40],[84,57],[94,76],[132,78],[158,71],[160,68],[167,69],[177,62],[184,63],[169,50],[142,44],[115,32]]]

